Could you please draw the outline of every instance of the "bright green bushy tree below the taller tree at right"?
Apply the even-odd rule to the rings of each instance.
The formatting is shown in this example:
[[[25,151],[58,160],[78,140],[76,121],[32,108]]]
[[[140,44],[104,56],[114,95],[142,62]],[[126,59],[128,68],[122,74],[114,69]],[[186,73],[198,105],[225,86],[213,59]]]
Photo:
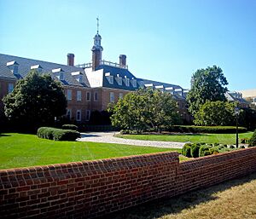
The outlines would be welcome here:
[[[207,101],[195,113],[194,123],[197,125],[234,125],[234,108],[236,103],[223,101]]]

